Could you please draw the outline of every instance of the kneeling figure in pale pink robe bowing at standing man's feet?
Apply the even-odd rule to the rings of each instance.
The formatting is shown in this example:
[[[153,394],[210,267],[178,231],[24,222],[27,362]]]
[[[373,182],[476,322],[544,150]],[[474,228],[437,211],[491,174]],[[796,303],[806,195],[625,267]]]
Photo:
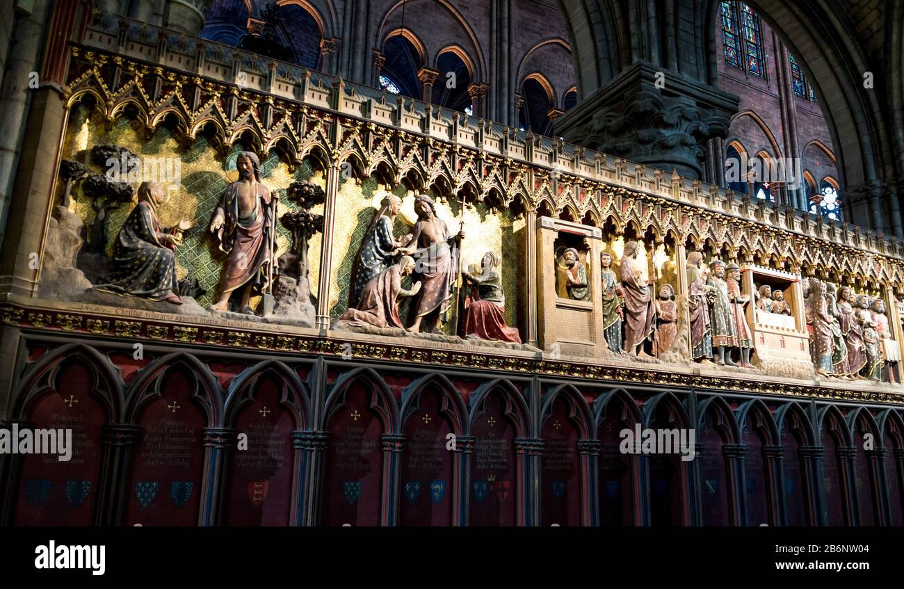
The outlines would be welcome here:
[[[399,298],[414,296],[420,291],[419,282],[414,283],[410,290],[401,287],[401,277],[409,276],[412,270],[414,258],[403,256],[398,264],[373,276],[361,289],[357,307],[347,309],[334,326],[339,327],[347,322],[355,327],[373,325],[405,329],[399,318]]]

